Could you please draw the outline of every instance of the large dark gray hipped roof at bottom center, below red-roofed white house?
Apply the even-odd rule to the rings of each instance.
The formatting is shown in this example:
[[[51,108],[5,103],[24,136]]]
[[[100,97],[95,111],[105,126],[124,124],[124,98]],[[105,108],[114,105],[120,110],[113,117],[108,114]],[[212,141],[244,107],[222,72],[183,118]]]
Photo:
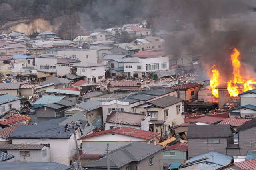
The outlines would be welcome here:
[[[110,169],[120,168],[130,162],[139,162],[156,152],[164,149],[162,146],[150,145],[146,143],[133,142],[119,149],[110,152]],[[156,161],[156,160],[155,160]],[[86,168],[106,168],[107,157],[101,158],[86,166]]]

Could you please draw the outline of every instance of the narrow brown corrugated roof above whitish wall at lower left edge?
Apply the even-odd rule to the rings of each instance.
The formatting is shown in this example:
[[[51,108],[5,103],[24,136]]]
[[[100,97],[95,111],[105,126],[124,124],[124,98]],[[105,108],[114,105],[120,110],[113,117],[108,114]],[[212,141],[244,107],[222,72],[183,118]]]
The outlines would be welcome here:
[[[0,144],[0,149],[29,149],[29,150],[41,150],[45,145],[43,144]]]

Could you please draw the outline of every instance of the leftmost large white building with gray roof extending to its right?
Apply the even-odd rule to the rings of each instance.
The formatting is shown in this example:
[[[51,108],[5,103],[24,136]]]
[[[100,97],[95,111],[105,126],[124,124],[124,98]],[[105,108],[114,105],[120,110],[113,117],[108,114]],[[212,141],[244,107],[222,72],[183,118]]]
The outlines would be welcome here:
[[[39,78],[42,77],[44,73],[56,73],[60,76],[64,76],[70,72],[70,66],[81,62],[77,59],[57,57],[38,57],[35,61]]]

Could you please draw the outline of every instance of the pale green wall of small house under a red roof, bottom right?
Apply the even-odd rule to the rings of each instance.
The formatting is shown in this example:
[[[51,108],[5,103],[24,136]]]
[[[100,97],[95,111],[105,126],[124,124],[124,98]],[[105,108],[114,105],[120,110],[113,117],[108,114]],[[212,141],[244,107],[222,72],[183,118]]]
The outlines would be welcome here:
[[[175,156],[164,156],[164,152],[175,152]],[[176,150],[176,149],[172,149],[172,150],[166,150],[163,151],[163,159],[164,159],[164,163],[169,163],[169,162],[180,162],[180,163],[184,163],[184,160],[187,159],[187,154],[184,151],[180,151],[180,150]]]

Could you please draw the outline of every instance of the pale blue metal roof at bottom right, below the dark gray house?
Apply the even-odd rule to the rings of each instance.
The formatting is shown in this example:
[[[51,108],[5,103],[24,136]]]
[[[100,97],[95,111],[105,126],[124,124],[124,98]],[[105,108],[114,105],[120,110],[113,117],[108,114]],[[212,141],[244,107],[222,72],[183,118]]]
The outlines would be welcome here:
[[[207,158],[207,159],[200,160],[203,158]],[[214,166],[216,166],[215,168],[218,169],[218,168],[221,168],[223,166],[230,164],[232,162],[232,159],[233,159],[232,156],[228,156],[226,154],[221,154],[221,153],[212,151],[212,152],[208,152],[208,153],[201,154],[198,156],[194,156],[193,158],[190,158],[190,160],[188,160],[185,165],[189,164],[190,162],[200,160],[198,162],[191,163],[191,165],[208,161],[208,162],[211,162],[212,164],[214,164]],[[204,166],[204,165],[208,166],[208,164],[202,164],[202,166]]]

